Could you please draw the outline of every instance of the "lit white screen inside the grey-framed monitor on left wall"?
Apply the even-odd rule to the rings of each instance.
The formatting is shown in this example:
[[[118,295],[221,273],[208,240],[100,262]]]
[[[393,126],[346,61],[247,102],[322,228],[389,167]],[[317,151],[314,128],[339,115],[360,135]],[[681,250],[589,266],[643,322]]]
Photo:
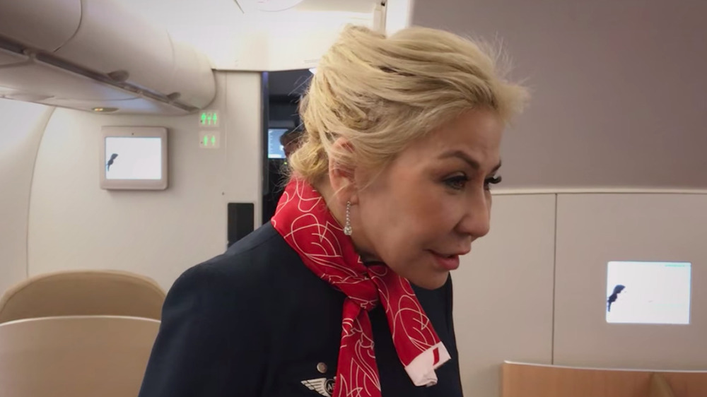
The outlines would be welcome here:
[[[162,178],[162,139],[109,136],[105,138],[106,179]]]

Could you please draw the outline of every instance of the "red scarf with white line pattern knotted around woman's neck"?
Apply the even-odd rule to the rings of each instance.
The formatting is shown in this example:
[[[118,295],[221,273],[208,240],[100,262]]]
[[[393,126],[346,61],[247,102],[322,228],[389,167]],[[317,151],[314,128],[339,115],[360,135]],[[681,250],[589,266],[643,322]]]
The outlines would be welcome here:
[[[346,294],[334,397],[380,397],[368,318],[368,311],[379,303],[410,379],[416,386],[437,383],[435,369],[450,355],[410,283],[383,264],[364,265],[324,198],[310,184],[293,179],[271,222],[312,272]]]

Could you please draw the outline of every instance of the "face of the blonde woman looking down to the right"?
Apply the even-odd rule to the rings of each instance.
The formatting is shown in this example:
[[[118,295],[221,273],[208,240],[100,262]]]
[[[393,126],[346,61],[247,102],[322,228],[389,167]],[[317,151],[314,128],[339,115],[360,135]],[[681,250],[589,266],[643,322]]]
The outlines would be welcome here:
[[[465,112],[408,146],[358,191],[351,208],[354,244],[421,288],[440,288],[472,242],[489,232],[503,122]]]

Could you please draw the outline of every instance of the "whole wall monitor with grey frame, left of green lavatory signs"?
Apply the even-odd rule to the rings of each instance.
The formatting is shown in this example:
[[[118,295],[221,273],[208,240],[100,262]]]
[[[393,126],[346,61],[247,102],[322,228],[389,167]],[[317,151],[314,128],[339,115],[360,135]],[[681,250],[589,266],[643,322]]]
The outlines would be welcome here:
[[[101,189],[167,189],[166,128],[104,126],[101,133]]]

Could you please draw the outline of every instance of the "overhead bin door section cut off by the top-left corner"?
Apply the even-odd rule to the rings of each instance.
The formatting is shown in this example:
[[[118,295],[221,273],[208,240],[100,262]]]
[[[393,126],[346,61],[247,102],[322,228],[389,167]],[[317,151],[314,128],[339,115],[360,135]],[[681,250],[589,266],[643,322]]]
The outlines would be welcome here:
[[[0,1],[0,35],[52,52],[69,40],[81,20],[81,0]]]

